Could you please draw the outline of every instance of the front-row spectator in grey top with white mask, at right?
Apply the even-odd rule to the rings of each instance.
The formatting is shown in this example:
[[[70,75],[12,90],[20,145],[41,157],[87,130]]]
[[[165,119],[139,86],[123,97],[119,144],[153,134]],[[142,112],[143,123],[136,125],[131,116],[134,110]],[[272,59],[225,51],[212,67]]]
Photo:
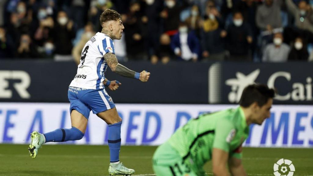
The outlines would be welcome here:
[[[283,34],[274,34],[273,43],[266,45],[263,62],[286,62],[290,51],[289,45],[283,43]]]

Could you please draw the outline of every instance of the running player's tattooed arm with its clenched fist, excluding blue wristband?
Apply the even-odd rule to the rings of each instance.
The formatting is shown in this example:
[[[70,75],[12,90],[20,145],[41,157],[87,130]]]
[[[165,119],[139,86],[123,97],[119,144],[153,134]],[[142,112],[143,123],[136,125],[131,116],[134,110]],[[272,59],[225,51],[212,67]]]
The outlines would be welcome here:
[[[135,78],[136,72],[133,70],[129,70],[124,65],[119,64],[115,54],[106,53],[104,55],[104,59],[113,72],[115,72],[121,76],[128,77],[128,78]],[[148,81],[149,76],[150,76],[149,72],[142,71],[140,73],[138,79],[141,80],[142,82],[146,82],[146,81]]]

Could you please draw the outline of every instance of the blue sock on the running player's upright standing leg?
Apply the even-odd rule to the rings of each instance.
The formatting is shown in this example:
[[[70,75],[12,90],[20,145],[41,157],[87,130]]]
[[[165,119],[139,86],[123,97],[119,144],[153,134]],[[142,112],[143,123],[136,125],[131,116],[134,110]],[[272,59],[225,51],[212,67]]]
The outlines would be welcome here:
[[[110,149],[110,163],[120,161],[121,125],[122,122],[109,125],[108,145]]]

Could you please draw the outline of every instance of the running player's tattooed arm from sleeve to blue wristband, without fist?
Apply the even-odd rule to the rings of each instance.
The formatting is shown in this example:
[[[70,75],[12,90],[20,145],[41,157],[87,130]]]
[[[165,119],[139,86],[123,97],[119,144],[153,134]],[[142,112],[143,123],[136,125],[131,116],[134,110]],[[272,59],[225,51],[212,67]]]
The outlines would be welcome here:
[[[121,75],[121,76],[125,76],[125,77],[129,77],[129,78],[134,78],[135,77],[135,71],[133,70],[129,70],[127,67],[125,67],[124,65],[121,65],[117,62],[117,58],[116,55],[113,53],[106,53],[104,55],[104,59],[106,61],[106,63],[108,63],[108,66],[110,67],[110,69]]]

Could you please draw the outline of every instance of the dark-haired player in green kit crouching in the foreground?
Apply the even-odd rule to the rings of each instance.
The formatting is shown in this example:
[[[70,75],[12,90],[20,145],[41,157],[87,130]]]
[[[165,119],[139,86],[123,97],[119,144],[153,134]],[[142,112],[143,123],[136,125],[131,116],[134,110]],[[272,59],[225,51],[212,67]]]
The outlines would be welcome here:
[[[212,160],[213,174],[247,175],[241,163],[242,143],[249,125],[269,118],[275,92],[266,85],[249,85],[240,106],[200,115],[179,128],[156,149],[153,170],[157,176],[203,176],[203,165]]]

